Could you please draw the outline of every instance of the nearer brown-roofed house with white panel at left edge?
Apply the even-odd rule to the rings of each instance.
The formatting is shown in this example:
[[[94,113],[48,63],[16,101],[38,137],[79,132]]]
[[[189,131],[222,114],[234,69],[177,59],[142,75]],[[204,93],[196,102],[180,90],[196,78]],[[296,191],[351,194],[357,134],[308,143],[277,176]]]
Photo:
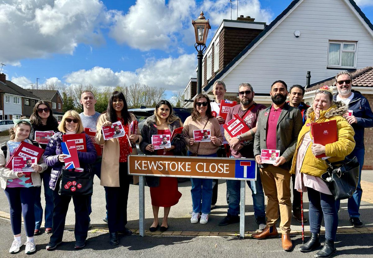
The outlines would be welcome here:
[[[32,109],[39,100],[26,89],[7,81],[4,73],[0,74],[0,120],[31,116]]]

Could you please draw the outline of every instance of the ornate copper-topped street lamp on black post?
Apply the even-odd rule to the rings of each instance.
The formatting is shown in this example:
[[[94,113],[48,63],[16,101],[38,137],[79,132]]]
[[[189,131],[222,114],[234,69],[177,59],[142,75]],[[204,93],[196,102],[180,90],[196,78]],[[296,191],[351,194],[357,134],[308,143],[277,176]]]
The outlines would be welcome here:
[[[195,32],[195,44],[194,47],[198,51],[198,73],[197,73],[197,94],[202,92],[202,59],[203,51],[206,50],[206,39],[207,34],[209,34],[209,29],[211,29],[209,20],[206,21],[203,12],[200,13],[200,16],[196,21],[192,20]]]

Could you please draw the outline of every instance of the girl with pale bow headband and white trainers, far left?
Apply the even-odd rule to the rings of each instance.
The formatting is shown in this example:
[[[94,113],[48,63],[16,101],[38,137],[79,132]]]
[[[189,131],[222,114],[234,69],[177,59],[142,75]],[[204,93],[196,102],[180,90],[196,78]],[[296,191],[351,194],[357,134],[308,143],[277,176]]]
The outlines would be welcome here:
[[[10,140],[5,142],[6,156],[4,155],[4,151],[0,151],[0,184],[9,202],[10,226],[12,226],[14,235],[14,241],[9,252],[15,254],[21,247],[22,214],[27,237],[25,253],[31,254],[36,250],[34,242],[35,195],[37,193],[37,188],[41,186],[39,173],[46,170],[47,165],[44,163],[43,158],[40,158],[38,164],[31,165],[33,170],[31,173],[15,172],[5,167],[22,141],[33,144],[32,141],[27,139],[31,131],[30,120],[15,119],[13,121],[14,128],[12,127],[9,129]],[[40,190],[38,192],[40,193]]]

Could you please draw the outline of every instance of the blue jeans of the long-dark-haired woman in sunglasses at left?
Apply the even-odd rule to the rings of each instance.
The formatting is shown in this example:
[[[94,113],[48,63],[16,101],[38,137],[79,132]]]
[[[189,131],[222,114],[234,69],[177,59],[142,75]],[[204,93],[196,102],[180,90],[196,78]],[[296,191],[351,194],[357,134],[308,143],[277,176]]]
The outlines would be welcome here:
[[[44,187],[44,198],[46,200],[46,207],[44,210],[45,223],[44,227],[52,227],[53,218],[53,191],[49,188],[49,177],[51,168],[40,174],[41,181]],[[35,229],[40,229],[41,222],[43,221],[43,207],[41,206],[41,187],[35,189]]]

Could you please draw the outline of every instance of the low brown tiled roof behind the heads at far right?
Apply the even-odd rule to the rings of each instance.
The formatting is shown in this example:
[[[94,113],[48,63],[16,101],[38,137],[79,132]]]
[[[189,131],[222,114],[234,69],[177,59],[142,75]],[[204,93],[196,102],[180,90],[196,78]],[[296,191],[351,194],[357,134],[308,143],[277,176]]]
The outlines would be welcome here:
[[[367,66],[363,69],[358,69],[350,72],[352,75],[352,87],[373,87],[373,67]],[[310,85],[310,88],[305,91],[313,91],[321,86],[335,86],[334,76]]]

